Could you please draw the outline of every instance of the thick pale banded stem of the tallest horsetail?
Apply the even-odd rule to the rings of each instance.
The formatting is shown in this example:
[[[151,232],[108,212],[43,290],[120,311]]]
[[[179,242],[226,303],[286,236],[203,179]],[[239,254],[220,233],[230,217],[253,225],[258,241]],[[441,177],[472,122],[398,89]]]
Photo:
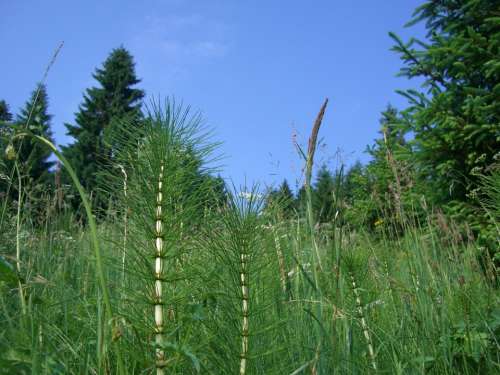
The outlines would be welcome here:
[[[162,274],[163,274],[163,163],[160,166],[158,176],[158,193],[156,195],[156,222],[155,222],[155,288],[154,288],[154,321],[155,321],[155,343],[156,343],[156,374],[164,374],[165,352],[161,349],[163,343],[163,293],[162,293]]]

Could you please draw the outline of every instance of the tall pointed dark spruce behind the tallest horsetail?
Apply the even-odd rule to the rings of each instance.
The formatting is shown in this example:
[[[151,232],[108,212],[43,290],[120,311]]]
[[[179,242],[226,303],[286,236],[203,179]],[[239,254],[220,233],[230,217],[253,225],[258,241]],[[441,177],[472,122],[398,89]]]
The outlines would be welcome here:
[[[109,163],[116,154],[112,135],[117,124],[140,124],[144,92],[133,88],[140,80],[131,54],[123,47],[114,49],[93,77],[99,87],[86,91],[76,113],[76,124],[66,124],[68,135],[75,142],[64,153],[78,171],[82,185],[93,192],[97,206],[102,208],[106,202],[102,196],[106,182],[99,177],[100,166]]]

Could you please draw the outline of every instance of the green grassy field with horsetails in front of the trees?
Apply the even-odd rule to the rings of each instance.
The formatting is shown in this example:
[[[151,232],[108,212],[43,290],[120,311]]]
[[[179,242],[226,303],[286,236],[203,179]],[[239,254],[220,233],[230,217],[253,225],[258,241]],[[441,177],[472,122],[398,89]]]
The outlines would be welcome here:
[[[453,223],[318,226],[256,191],[200,210],[179,150],[211,146],[160,120],[95,228],[54,197],[36,222],[4,206],[0,373],[500,372],[495,268]]]

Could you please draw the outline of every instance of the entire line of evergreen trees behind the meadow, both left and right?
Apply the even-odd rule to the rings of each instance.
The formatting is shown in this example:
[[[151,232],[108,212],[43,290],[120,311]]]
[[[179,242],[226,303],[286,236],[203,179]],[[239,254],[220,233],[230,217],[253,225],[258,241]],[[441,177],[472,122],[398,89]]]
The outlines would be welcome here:
[[[481,176],[498,173],[500,158],[500,15],[494,0],[436,0],[416,9],[409,26],[424,22],[426,40],[401,40],[390,33],[400,57],[401,76],[418,78],[420,89],[399,91],[403,109],[388,106],[380,132],[367,152],[371,160],[330,171],[322,167],[314,184],[314,209],[320,223],[342,220],[373,229],[397,225],[401,217],[418,220],[430,207],[468,223],[471,231],[489,233],[491,219],[478,214]],[[98,173],[113,158],[113,132],[124,121],[140,126],[144,91],[137,88],[132,55],[114,49],[93,74],[97,86],[85,91],[74,123],[65,124],[74,142],[63,154],[75,167],[97,207],[109,199]],[[28,139],[9,140],[16,128],[28,127],[52,139],[46,87],[36,87],[16,116],[0,101],[2,195],[16,196],[12,157],[26,186],[64,183],[49,152]],[[12,156],[12,155],[11,155]],[[58,182],[59,181],[59,182]],[[216,190],[224,195],[221,179]],[[44,190],[44,189],[42,189]],[[267,207],[280,202],[284,216],[303,214],[304,191],[293,194],[286,181],[267,196]],[[487,237],[490,236],[489,239]],[[485,235],[485,241],[491,235]]]

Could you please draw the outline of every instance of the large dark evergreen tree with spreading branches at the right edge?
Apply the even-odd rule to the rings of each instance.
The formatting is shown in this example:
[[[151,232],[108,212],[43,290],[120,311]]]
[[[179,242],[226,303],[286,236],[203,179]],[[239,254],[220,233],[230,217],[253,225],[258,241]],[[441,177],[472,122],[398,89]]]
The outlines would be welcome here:
[[[478,187],[477,172],[500,150],[498,12],[496,0],[427,1],[410,22],[425,22],[427,42],[391,34],[401,74],[427,88],[402,94],[410,102],[411,146],[435,203],[465,203]]]

